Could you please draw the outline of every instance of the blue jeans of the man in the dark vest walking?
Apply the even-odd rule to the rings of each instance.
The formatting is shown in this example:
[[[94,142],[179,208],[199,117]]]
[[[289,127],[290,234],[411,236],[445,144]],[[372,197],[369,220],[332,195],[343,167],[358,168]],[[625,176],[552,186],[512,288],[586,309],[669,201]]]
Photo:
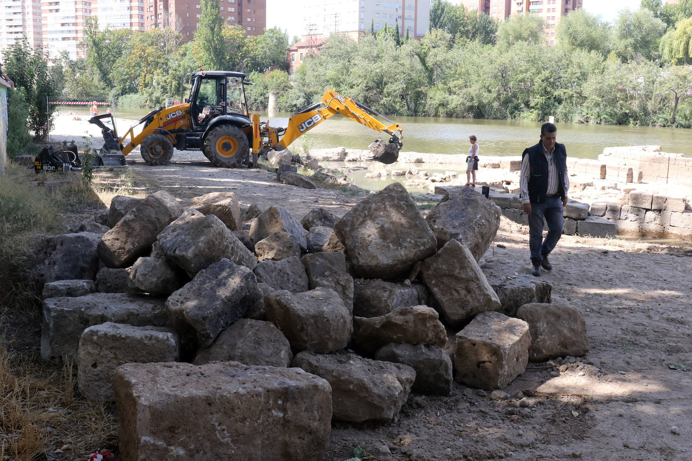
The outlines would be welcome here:
[[[543,255],[552,252],[562,235],[565,219],[560,196],[546,197],[543,203],[531,202],[529,214],[529,250],[531,261],[540,263]],[[543,218],[548,225],[548,234],[543,240]]]

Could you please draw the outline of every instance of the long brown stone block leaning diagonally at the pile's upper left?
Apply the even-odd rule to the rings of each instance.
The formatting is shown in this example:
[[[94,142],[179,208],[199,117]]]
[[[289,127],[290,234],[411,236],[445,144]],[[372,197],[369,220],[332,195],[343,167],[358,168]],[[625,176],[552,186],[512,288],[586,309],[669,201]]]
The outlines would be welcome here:
[[[98,256],[108,267],[127,267],[151,250],[156,236],[183,209],[166,191],[154,192],[127,212],[104,234]]]

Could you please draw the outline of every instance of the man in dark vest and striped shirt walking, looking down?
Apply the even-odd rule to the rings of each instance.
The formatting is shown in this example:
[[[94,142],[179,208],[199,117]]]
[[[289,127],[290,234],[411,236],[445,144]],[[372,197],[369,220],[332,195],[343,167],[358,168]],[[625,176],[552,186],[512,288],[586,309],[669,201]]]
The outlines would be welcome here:
[[[563,209],[567,205],[570,177],[567,175],[565,144],[557,142],[557,127],[545,123],[540,127],[538,144],[522,153],[520,193],[522,208],[529,218],[529,250],[531,274],[540,276],[540,268],[552,270],[548,254],[562,235]],[[543,239],[543,218],[548,234]]]

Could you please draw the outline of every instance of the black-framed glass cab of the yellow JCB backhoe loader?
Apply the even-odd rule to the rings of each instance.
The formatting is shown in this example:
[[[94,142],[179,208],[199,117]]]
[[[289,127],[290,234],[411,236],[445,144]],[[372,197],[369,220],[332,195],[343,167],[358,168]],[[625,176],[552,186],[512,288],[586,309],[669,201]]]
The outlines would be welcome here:
[[[231,116],[249,123],[245,100],[244,79],[239,72],[221,70],[193,73],[190,91],[190,115],[197,130],[204,130],[219,115]]]

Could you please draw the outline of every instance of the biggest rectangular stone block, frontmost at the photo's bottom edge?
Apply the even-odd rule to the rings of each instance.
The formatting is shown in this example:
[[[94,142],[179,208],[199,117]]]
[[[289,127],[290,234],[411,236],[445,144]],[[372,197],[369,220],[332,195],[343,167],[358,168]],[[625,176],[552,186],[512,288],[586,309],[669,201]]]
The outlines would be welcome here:
[[[329,383],[237,362],[126,364],[114,384],[123,460],[313,460],[327,453]]]

